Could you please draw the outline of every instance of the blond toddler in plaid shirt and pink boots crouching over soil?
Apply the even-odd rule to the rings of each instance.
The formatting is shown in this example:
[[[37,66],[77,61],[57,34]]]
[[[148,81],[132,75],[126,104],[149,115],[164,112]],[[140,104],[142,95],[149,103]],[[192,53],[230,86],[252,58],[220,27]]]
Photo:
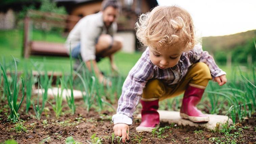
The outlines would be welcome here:
[[[141,124],[137,131],[152,131],[159,124],[158,102],[184,93],[180,116],[192,122],[209,117],[195,107],[210,79],[220,86],[226,73],[195,38],[189,13],[177,6],[157,6],[136,23],[137,38],[147,47],[129,72],[113,115],[114,133],[129,139],[129,125],[139,101]]]

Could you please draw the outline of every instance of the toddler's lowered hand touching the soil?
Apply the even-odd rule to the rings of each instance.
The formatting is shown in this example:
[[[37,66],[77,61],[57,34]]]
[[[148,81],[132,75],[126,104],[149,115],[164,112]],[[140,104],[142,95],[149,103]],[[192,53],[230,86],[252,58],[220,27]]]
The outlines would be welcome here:
[[[116,136],[122,137],[123,143],[125,143],[125,139],[129,140],[129,125],[118,123],[114,125],[113,129]]]

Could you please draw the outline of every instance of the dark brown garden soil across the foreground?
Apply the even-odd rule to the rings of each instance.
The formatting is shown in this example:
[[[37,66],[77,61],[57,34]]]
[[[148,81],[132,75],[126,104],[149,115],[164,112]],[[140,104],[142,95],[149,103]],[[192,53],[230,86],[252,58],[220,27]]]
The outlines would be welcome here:
[[[115,113],[108,110],[97,112],[96,109],[86,111],[83,106],[83,100],[76,101],[76,113],[71,115],[67,104],[64,103],[64,114],[59,118],[55,118],[55,114],[49,104],[46,105],[49,111],[42,114],[41,120],[34,117],[34,112],[31,109],[28,114],[25,114],[25,102],[22,109],[19,111],[21,119],[24,121],[24,126],[27,132],[16,132],[14,124],[7,121],[6,112],[8,106],[6,100],[0,103],[0,143],[8,139],[14,139],[18,143],[65,143],[67,137],[72,136],[73,139],[80,143],[92,143],[91,136],[96,134],[102,143],[112,143],[113,122],[111,117]],[[137,113],[140,109],[137,109]],[[47,122],[46,122],[47,121]],[[213,132],[207,129],[190,126],[176,126],[174,124],[161,123],[160,127],[170,126],[161,135],[152,133],[137,133],[135,131],[140,120],[134,119],[134,123],[130,126],[130,140],[126,143],[250,143],[256,142],[256,114],[251,118],[237,123],[235,129],[229,133],[220,131]],[[118,138],[115,138],[114,143],[118,143]]]

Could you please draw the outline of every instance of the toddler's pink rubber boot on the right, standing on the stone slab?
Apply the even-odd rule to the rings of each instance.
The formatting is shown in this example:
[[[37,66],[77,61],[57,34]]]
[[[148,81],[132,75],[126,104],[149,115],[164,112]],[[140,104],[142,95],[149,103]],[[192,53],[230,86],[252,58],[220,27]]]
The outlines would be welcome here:
[[[204,89],[188,86],[182,100],[180,116],[184,119],[189,119],[192,122],[208,122],[209,116],[197,110],[195,105],[200,102]]]

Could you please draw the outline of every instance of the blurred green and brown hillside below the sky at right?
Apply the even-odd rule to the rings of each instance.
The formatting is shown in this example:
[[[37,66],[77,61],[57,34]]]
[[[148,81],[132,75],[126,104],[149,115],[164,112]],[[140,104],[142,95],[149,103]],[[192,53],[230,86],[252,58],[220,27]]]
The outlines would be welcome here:
[[[227,59],[232,63],[256,63],[254,39],[256,30],[218,37],[205,37],[203,49],[213,54],[215,60],[225,65]]]

